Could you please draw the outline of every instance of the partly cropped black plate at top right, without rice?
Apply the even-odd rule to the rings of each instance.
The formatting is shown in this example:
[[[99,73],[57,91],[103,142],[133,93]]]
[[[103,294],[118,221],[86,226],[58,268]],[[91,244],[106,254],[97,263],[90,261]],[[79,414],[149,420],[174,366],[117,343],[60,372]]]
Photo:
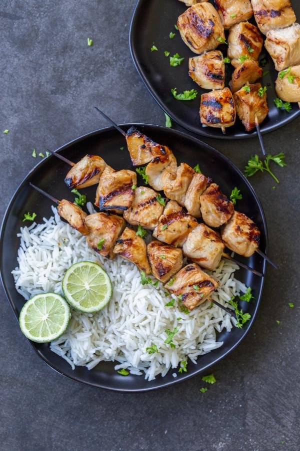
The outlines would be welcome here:
[[[296,16],[300,20],[300,3],[292,0],[292,5]],[[129,44],[131,56],[142,81],[159,103],[161,108],[181,127],[193,133],[207,136],[209,138],[219,139],[237,139],[249,138],[256,135],[256,131],[245,132],[245,129],[238,119],[232,127],[226,129],[223,135],[220,129],[203,127],[199,118],[200,94],[207,92],[201,89],[188,76],[188,58],[196,56],[183,43],[179,32],[174,29],[177,17],[184,12],[185,5],[177,0],[139,0],[135,7],[131,26]],[[253,19],[251,20],[254,21]],[[255,22],[253,22],[255,24]],[[174,32],[175,37],[169,39],[169,33]],[[227,34],[226,34],[227,36]],[[150,52],[150,48],[155,44],[158,52]],[[227,46],[218,47],[224,56],[227,54]],[[164,56],[164,51],[170,52],[170,55],[179,53],[185,60],[181,66],[171,67],[169,58]],[[263,48],[259,60],[265,58],[267,64],[263,67],[264,71],[269,73],[263,77],[262,85],[268,87],[267,97],[269,113],[261,124],[261,132],[267,133],[275,130],[282,125],[287,124],[300,114],[296,103],[292,104],[292,110],[278,110],[273,99],[277,97],[274,89],[274,82],[277,78],[277,72],[271,57]],[[226,64],[226,86],[231,78],[230,64]],[[195,89],[198,95],[195,100],[178,101],[171,94],[171,88],[177,88],[177,93],[184,90]]]

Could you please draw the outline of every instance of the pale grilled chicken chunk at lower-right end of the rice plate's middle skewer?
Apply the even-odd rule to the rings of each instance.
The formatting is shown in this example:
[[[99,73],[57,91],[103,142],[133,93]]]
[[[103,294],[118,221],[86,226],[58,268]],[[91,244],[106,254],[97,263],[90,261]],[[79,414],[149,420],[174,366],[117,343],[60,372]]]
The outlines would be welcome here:
[[[218,266],[224,250],[218,233],[205,224],[198,224],[188,235],[183,247],[183,254],[202,268],[213,270]]]

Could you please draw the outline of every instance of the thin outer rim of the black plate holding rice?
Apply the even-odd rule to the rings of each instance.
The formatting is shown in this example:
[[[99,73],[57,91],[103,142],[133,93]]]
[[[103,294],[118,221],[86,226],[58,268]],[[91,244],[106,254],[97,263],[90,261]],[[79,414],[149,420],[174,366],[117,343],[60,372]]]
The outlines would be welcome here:
[[[215,149],[214,147],[210,146],[209,144],[201,141],[199,138],[195,137],[195,136],[191,136],[188,133],[184,132],[184,131],[180,131],[180,130],[175,130],[172,128],[167,128],[161,125],[154,125],[154,124],[148,124],[148,123],[124,123],[124,124],[119,124],[119,127],[121,128],[129,128],[131,126],[135,126],[135,127],[151,127],[154,130],[158,129],[158,130],[163,130],[165,132],[168,133],[172,133],[175,134],[177,136],[181,136],[182,138],[185,139],[190,139],[192,141],[194,141],[195,144],[201,145],[206,147],[207,149],[209,149],[209,151],[211,151],[212,153],[215,153],[216,155],[220,156],[223,160],[225,160],[225,162],[227,164],[229,164],[229,166],[231,166],[231,168],[233,168],[243,179],[243,182],[247,185],[248,189],[250,190],[251,194],[253,195],[255,202],[258,206],[258,209],[260,211],[261,214],[261,219],[262,219],[262,224],[263,224],[263,231],[264,231],[264,235],[265,235],[265,253],[267,253],[268,250],[268,233],[267,233],[267,224],[266,224],[266,219],[265,219],[265,214],[261,205],[261,202],[259,200],[258,195],[256,194],[254,188],[252,187],[252,185],[250,184],[250,182],[248,181],[248,179],[244,176],[244,174],[241,172],[241,170],[235,166],[235,164],[223,153],[221,153],[219,150]],[[91,136],[94,135],[101,135],[105,132],[108,131],[114,131],[114,127],[112,126],[108,126],[108,127],[103,127],[100,129],[96,129],[93,130],[91,132],[85,133],[83,135],[80,135],[79,137],[72,139],[70,141],[68,141],[67,143],[63,144],[62,146],[58,147],[57,149],[54,150],[54,152],[60,152],[63,151],[65,149],[67,149],[69,146],[73,145],[73,144],[77,144],[80,141],[83,141],[86,138],[89,138]],[[51,156],[50,156],[51,157]],[[54,157],[53,157],[54,158]],[[25,185],[25,183],[27,183],[28,179],[40,168],[40,166],[46,164],[46,161],[48,160],[48,158],[44,158],[41,161],[39,161],[28,173],[27,175],[22,179],[22,181],[19,183],[19,185],[17,186],[17,188],[15,189],[14,193],[12,194],[12,197],[5,209],[4,215],[3,215],[3,219],[2,219],[2,223],[1,223],[1,228],[0,228],[0,280],[4,289],[4,293],[6,296],[6,299],[14,313],[14,318],[16,320],[16,322],[18,323],[18,316],[17,316],[17,312],[16,312],[16,308],[12,299],[12,296],[10,295],[10,292],[6,286],[6,282],[4,280],[4,276],[3,276],[3,234],[5,232],[5,226],[6,226],[6,222],[8,219],[8,215],[9,215],[9,211],[11,208],[11,205],[13,204],[16,196],[18,195],[19,191],[22,189],[22,187]],[[55,365],[53,363],[51,363],[46,356],[44,356],[39,349],[37,349],[35,347],[35,345],[28,340],[26,337],[24,337],[27,342],[30,344],[31,348],[34,350],[34,352],[42,359],[42,361],[48,366],[50,367],[52,370],[54,370],[56,373],[58,373],[61,376],[64,376],[68,379],[74,380],[76,382],[79,382],[83,385],[87,385],[87,386],[91,386],[97,389],[104,389],[104,390],[109,390],[109,391],[114,391],[114,392],[119,392],[119,393],[137,393],[137,392],[147,392],[147,391],[152,391],[152,390],[157,390],[157,389],[161,389],[161,388],[166,388],[169,387],[171,385],[174,385],[176,383],[180,383],[180,382],[184,382],[187,379],[196,376],[198,374],[203,373],[204,371],[206,371],[208,368],[211,368],[213,365],[217,364],[220,360],[222,360],[224,357],[226,357],[228,354],[230,354],[234,349],[236,349],[236,347],[241,343],[241,341],[243,341],[245,339],[245,337],[248,335],[250,329],[252,328],[252,325],[256,319],[257,316],[257,312],[260,306],[260,302],[261,302],[261,298],[262,298],[262,291],[263,291],[263,287],[264,287],[264,282],[265,282],[265,276],[266,276],[266,261],[264,260],[263,265],[262,265],[262,273],[263,276],[261,277],[261,284],[260,284],[260,288],[259,288],[259,293],[257,296],[257,301],[255,303],[255,308],[253,311],[253,314],[249,320],[249,322],[247,323],[247,328],[244,330],[243,334],[240,336],[240,338],[226,351],[224,352],[221,356],[219,356],[218,358],[215,358],[211,363],[205,365],[204,367],[202,367],[201,369],[195,370],[191,373],[187,373],[186,375],[184,375],[183,377],[180,377],[180,379],[177,378],[173,378],[173,380],[170,381],[163,381],[163,378],[161,378],[161,382],[159,384],[157,384],[156,386],[151,386],[151,387],[143,387],[143,388],[114,388],[112,386],[106,386],[106,385],[100,385],[100,384],[96,384],[93,382],[88,382],[88,381],[84,381],[81,380],[79,376],[73,376],[73,375],[69,375],[69,374],[65,374],[63,370],[58,369],[57,367],[55,367]],[[171,369],[170,369],[171,370]],[[169,370],[169,371],[170,371]],[[136,376],[137,377],[137,376]],[[138,377],[142,377],[142,376],[138,376]]]

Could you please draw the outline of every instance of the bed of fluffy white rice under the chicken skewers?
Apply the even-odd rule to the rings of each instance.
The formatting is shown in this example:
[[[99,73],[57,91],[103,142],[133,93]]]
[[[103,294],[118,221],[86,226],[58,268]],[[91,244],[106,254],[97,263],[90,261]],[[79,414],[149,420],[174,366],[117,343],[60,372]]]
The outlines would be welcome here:
[[[113,294],[109,304],[96,314],[82,314],[72,310],[66,332],[50,343],[53,352],[75,365],[92,369],[100,361],[116,361],[115,370],[126,368],[131,374],[152,380],[164,376],[187,357],[196,363],[199,355],[220,347],[216,332],[232,328],[231,316],[206,301],[185,314],[177,301],[170,301],[161,283],[155,288],[140,284],[138,269],[116,257],[106,260],[90,250],[85,238],[60,220],[55,208],[54,216],[43,218],[41,224],[23,227],[20,238],[18,267],[12,271],[15,287],[26,300],[36,293],[61,292],[61,279],[65,271],[76,262],[93,261],[108,273]],[[232,296],[245,292],[246,287],[234,279],[238,267],[222,260],[211,274],[219,287],[211,296],[226,305]],[[173,337],[175,348],[164,343],[165,329],[178,332]],[[155,344],[158,352],[148,354],[146,348]],[[190,364],[190,362],[189,362]],[[174,376],[176,373],[172,373]]]

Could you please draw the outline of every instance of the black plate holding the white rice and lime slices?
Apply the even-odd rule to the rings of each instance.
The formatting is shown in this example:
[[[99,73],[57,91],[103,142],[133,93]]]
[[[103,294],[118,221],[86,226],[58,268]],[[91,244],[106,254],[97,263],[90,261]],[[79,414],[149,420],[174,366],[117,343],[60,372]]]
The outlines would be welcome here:
[[[127,130],[129,126],[130,124],[126,124],[122,128]],[[257,223],[261,231],[260,249],[263,252],[266,251],[267,232],[260,202],[246,178],[225,156],[196,138],[176,130],[155,125],[138,124],[137,127],[157,142],[170,146],[178,162],[185,161],[191,166],[199,163],[203,173],[213,177],[214,181],[220,184],[224,193],[230,193],[233,186],[241,189],[243,198],[238,201],[238,208],[251,216]],[[105,128],[81,136],[60,147],[57,151],[73,161],[78,161],[87,152],[99,154],[115,169],[132,168],[128,152],[120,150],[120,147],[124,145],[124,138],[114,128]],[[49,217],[52,214],[51,201],[30,188],[28,182],[31,181],[58,199],[71,200],[73,194],[63,182],[67,169],[68,166],[64,162],[53,156],[42,160],[20,184],[7,207],[0,235],[0,272],[7,298],[16,318],[19,316],[24,299],[15,290],[11,271],[17,265],[19,240],[16,239],[16,233],[21,225],[24,225],[21,218],[26,211],[35,211],[37,221],[42,221],[42,217]],[[83,191],[86,193],[87,199],[93,201],[95,186]],[[265,263],[258,255],[255,254],[246,260],[252,268],[262,273],[265,272]],[[254,276],[241,269],[238,271],[238,279],[253,289],[255,301],[244,302],[245,305],[242,306],[252,315],[251,320],[243,329],[233,328],[230,333],[219,334],[218,339],[224,341],[223,346],[200,356],[196,365],[189,363],[188,373],[178,374],[176,378],[171,375],[174,370],[170,370],[165,377],[156,377],[151,382],[145,381],[142,376],[124,377],[116,373],[113,369],[114,364],[111,362],[103,362],[90,371],[77,366],[73,371],[65,360],[50,351],[47,344],[31,342],[30,344],[51,368],[64,376],[88,385],[119,391],[143,391],[171,385],[209,368],[232,351],[249,331],[258,310],[264,278]]]

